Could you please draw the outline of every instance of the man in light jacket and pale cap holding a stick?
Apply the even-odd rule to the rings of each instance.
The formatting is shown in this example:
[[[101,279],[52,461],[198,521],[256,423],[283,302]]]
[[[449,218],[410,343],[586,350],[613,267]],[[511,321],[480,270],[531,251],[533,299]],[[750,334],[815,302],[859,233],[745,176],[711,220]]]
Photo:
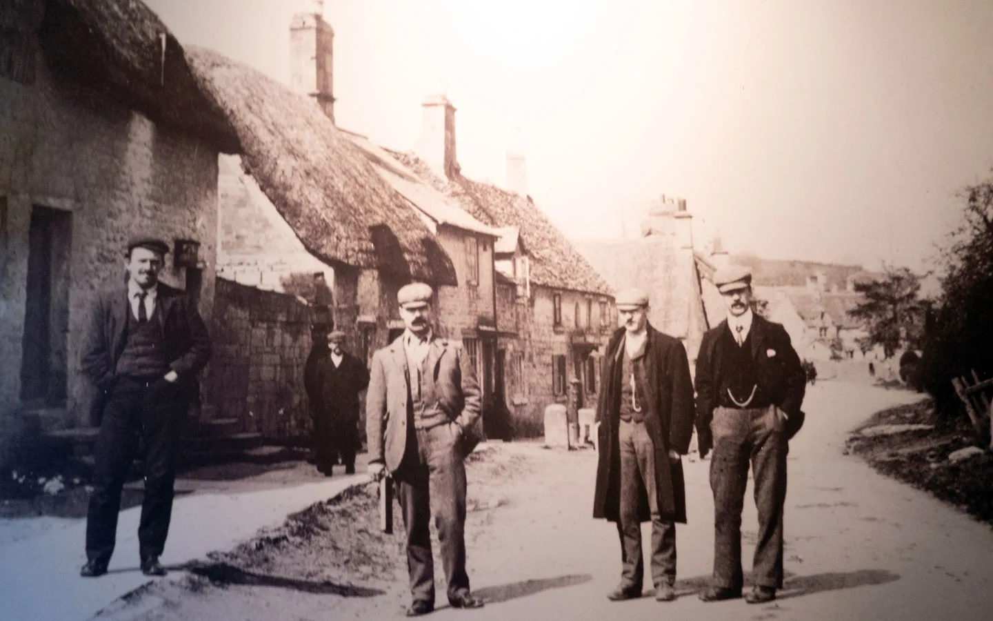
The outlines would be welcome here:
[[[461,344],[434,336],[433,291],[424,283],[397,293],[403,334],[372,356],[365,395],[368,472],[388,471],[396,485],[407,536],[412,603],[407,616],[434,610],[434,514],[454,608],[479,608],[466,573],[466,455],[474,447],[480,386]]]

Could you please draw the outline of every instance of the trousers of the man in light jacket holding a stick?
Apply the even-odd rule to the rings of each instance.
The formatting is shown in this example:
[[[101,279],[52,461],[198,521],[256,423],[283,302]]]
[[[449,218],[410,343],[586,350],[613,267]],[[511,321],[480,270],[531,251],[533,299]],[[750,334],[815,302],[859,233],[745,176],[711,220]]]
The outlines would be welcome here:
[[[466,468],[455,445],[452,423],[414,431],[408,426],[406,452],[393,474],[407,532],[407,568],[414,601],[435,599],[434,558],[429,525],[434,515],[442,565],[451,599],[469,590],[466,573]]]

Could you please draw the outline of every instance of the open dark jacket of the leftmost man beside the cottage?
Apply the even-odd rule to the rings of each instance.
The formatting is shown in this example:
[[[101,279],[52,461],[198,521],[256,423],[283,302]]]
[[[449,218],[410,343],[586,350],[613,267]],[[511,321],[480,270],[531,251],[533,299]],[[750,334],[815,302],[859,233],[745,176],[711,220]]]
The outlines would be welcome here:
[[[99,390],[93,404],[96,420],[102,415],[107,392],[117,381],[114,369],[127,335],[128,313],[131,306],[127,287],[102,293],[90,314],[82,348],[82,371]],[[156,299],[162,341],[169,368],[179,375],[178,386],[185,395],[193,397],[199,390],[197,374],[211,359],[211,337],[207,326],[185,292],[159,283]]]

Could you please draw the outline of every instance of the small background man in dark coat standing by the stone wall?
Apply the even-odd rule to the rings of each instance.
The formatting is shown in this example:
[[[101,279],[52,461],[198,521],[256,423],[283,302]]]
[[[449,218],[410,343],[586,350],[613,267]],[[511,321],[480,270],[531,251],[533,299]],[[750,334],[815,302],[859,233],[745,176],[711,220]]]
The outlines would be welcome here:
[[[345,474],[355,474],[358,394],[369,385],[365,363],[343,349],[345,333],[328,334],[328,351],[314,365],[311,387],[317,469],[327,476],[341,455]]]

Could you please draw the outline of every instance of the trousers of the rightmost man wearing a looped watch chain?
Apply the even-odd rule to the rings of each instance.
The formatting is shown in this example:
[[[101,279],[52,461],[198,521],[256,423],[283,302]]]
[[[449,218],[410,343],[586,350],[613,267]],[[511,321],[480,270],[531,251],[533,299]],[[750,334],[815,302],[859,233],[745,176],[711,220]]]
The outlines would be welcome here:
[[[714,585],[740,589],[742,509],[748,468],[755,479],[759,536],[753,582],[782,588],[782,505],[786,499],[786,435],[775,407],[718,407],[710,423],[714,455],[710,489],[714,492]]]

